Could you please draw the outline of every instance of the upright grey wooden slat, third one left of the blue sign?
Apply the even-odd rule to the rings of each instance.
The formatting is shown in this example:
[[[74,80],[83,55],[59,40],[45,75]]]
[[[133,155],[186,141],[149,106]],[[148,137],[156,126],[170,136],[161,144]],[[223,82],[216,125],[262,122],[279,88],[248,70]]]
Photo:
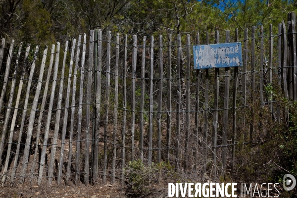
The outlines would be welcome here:
[[[168,56],[167,56],[167,162],[170,161],[170,149],[171,149],[171,34],[167,36],[168,43]]]

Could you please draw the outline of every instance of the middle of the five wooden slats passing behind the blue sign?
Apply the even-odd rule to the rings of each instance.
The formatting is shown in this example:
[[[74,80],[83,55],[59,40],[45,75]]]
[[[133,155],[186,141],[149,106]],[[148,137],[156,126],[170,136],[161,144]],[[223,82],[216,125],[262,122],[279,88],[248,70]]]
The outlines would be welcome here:
[[[220,43],[219,31],[215,31],[215,44]],[[213,164],[214,164],[214,179],[217,176],[217,130],[218,130],[218,109],[219,109],[219,68],[215,68],[215,77],[214,77],[214,102],[213,102],[213,119],[212,119],[212,152],[213,152]]]

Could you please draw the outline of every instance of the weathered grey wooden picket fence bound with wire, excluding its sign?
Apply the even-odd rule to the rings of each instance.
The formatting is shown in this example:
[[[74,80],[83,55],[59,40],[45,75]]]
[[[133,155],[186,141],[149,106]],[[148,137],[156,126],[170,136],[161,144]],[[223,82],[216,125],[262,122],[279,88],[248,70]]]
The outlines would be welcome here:
[[[193,45],[211,43],[208,32],[197,33],[194,42],[191,35],[145,36],[140,45],[135,35],[112,39],[111,32],[91,30],[88,38],[66,41],[64,49],[51,45],[50,53],[48,46],[34,50],[14,40],[5,47],[2,39],[2,185],[16,178],[113,183],[125,180],[124,169],[134,160],[148,166],[166,161],[178,173],[214,179],[225,174],[227,163],[234,170],[236,145],[257,140],[247,109],[255,113],[259,103],[275,122],[287,119],[264,87],[281,86],[287,99],[297,100],[295,22],[292,12],[288,31],[284,22],[277,34],[272,25],[266,34],[263,26],[258,33],[251,27],[243,40],[238,29],[226,31],[225,43],[243,42],[243,65],[224,69],[193,69]],[[218,31],[214,43],[220,43]]]

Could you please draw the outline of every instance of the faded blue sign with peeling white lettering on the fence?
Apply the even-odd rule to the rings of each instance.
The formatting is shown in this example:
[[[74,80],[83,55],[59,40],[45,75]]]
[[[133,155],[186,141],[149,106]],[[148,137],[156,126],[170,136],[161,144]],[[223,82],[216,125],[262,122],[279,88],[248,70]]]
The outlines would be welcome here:
[[[194,69],[242,66],[241,43],[193,46]]]

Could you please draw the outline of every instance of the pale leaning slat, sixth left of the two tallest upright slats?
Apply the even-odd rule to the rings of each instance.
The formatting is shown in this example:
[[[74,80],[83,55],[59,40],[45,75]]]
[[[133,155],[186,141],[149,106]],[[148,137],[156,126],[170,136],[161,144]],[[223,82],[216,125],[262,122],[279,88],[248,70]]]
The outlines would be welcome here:
[[[54,48],[55,48],[55,46],[51,45],[48,75],[47,75],[46,86],[45,86],[45,89],[44,89],[44,95],[43,95],[43,98],[42,98],[42,104],[41,104],[39,118],[38,118],[38,127],[37,127],[36,142],[35,142],[35,151],[34,151],[32,167],[31,167],[31,174],[30,174],[30,178],[29,178],[30,181],[32,180],[32,177],[33,177],[33,174],[34,174],[34,171],[35,171],[35,164],[36,164],[36,158],[37,158],[37,152],[38,152],[38,146],[39,146],[39,136],[40,136],[41,124],[42,124],[41,121],[42,121],[43,111],[45,109],[46,100],[47,100],[47,96],[48,96],[49,78],[50,78],[50,75],[51,75],[51,68],[52,68],[52,64],[53,64]]]

